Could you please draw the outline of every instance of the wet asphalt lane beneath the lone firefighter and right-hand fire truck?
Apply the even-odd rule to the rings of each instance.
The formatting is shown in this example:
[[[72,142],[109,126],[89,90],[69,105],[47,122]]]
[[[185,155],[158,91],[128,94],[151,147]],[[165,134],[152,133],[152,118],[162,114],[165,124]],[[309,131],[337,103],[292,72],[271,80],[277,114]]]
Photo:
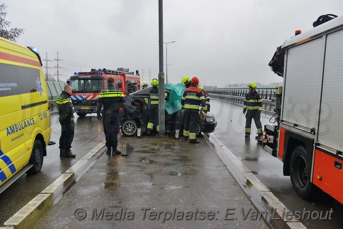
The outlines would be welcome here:
[[[291,211],[333,210],[331,220],[300,220],[307,228],[341,228],[343,226],[343,205],[325,193],[314,201],[300,198],[293,190],[290,177],[282,174],[283,163],[266,152],[255,140],[256,126],[252,123],[250,139],[244,137],[245,117],[243,107],[219,100],[211,100],[211,112],[218,122],[215,136],[225,144],[253,174]],[[262,126],[269,122],[271,115],[262,112]],[[325,213],[324,213],[325,214]]]

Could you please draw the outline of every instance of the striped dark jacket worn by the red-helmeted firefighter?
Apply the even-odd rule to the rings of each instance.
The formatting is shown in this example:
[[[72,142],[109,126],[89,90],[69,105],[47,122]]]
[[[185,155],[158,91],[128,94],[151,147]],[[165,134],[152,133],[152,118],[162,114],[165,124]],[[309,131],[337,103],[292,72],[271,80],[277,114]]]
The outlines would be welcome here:
[[[204,92],[196,85],[186,88],[182,96],[181,107],[199,110],[199,106],[202,106],[202,110],[207,111]]]

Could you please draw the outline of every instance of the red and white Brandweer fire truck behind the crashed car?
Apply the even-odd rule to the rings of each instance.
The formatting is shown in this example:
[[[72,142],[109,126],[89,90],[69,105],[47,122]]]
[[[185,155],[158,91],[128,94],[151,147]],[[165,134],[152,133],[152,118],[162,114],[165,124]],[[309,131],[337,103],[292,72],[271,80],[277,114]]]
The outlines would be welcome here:
[[[67,80],[67,84],[73,87],[71,96],[74,111],[78,116],[84,117],[87,113],[96,113],[96,102],[100,91],[107,88],[107,79],[115,79],[115,86],[124,95],[140,89],[140,76],[129,72],[129,69],[118,68],[117,70],[91,69],[90,72],[76,72]]]

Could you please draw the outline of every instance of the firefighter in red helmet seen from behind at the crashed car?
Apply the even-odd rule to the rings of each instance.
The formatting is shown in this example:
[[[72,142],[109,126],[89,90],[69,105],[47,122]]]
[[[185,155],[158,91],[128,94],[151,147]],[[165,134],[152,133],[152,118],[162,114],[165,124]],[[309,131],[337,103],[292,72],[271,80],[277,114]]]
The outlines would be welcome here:
[[[203,90],[198,87],[198,77],[193,77],[191,80],[192,86],[187,88],[182,96],[181,107],[185,108],[185,125],[184,137],[190,143],[200,143],[196,139],[196,129],[199,120],[199,106],[202,110],[207,111],[206,101]]]

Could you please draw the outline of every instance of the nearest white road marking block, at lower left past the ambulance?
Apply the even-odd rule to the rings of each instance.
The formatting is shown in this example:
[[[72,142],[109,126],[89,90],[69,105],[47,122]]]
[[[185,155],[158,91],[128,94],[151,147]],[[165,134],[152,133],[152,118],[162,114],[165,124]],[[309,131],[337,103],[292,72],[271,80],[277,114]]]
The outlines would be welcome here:
[[[9,218],[4,225],[19,225],[19,223],[28,216],[38,205],[51,194],[38,194],[29,203],[22,207],[17,213]]]

